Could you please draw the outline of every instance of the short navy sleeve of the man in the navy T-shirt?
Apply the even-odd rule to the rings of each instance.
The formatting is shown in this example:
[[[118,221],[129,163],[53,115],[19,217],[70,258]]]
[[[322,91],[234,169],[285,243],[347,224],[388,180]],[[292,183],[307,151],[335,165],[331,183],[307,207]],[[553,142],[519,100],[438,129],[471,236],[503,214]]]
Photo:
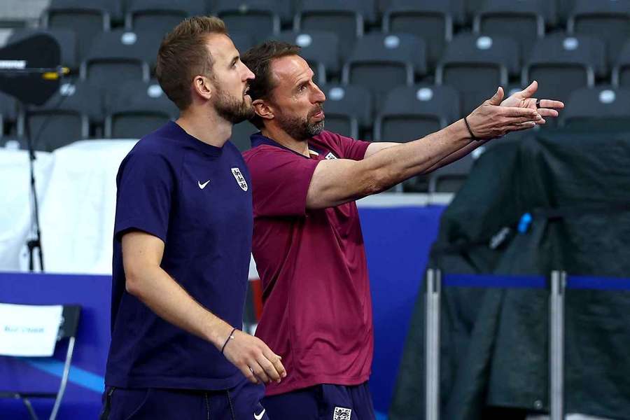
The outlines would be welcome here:
[[[132,153],[118,170],[114,237],[142,230],[166,241],[174,176],[169,162],[155,154]]]

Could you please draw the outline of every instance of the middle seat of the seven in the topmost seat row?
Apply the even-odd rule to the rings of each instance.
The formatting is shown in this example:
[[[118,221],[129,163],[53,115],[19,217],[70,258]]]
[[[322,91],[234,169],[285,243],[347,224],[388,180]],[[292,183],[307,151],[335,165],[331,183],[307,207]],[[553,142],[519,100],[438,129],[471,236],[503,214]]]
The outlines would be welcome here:
[[[295,13],[293,30],[334,32],[339,37],[342,56],[347,56],[356,38],[363,36],[364,7],[360,0],[304,2]]]

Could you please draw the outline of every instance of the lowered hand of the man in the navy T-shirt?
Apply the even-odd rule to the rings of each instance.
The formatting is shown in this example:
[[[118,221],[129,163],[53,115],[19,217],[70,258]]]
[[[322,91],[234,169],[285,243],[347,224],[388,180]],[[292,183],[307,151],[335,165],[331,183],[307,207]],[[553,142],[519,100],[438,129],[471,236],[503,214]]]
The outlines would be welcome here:
[[[254,384],[280,382],[286,377],[281,357],[258,337],[240,330],[232,332],[225,342],[223,354]]]

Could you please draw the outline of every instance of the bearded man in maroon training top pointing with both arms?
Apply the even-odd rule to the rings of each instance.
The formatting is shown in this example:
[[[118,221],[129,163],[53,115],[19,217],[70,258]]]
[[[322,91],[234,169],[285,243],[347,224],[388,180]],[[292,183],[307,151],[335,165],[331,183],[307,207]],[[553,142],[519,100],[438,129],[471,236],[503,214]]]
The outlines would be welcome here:
[[[425,174],[488,139],[545,123],[561,102],[503,90],[465,118],[406,144],[323,131],[325,95],[299,48],[269,41],[241,57],[261,130],[244,153],[253,190],[253,256],[265,302],[256,335],[287,377],[267,386],[273,420],[374,419],[367,379],[372,304],[354,200]]]

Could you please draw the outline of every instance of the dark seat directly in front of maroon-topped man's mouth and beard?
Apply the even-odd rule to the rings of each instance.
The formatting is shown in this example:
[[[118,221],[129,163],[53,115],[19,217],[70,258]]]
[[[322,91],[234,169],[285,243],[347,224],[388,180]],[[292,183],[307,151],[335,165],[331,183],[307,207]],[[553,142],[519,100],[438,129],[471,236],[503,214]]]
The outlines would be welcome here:
[[[372,96],[365,87],[331,83],[321,90],[326,95],[325,130],[358,139],[360,130],[372,125]]]

